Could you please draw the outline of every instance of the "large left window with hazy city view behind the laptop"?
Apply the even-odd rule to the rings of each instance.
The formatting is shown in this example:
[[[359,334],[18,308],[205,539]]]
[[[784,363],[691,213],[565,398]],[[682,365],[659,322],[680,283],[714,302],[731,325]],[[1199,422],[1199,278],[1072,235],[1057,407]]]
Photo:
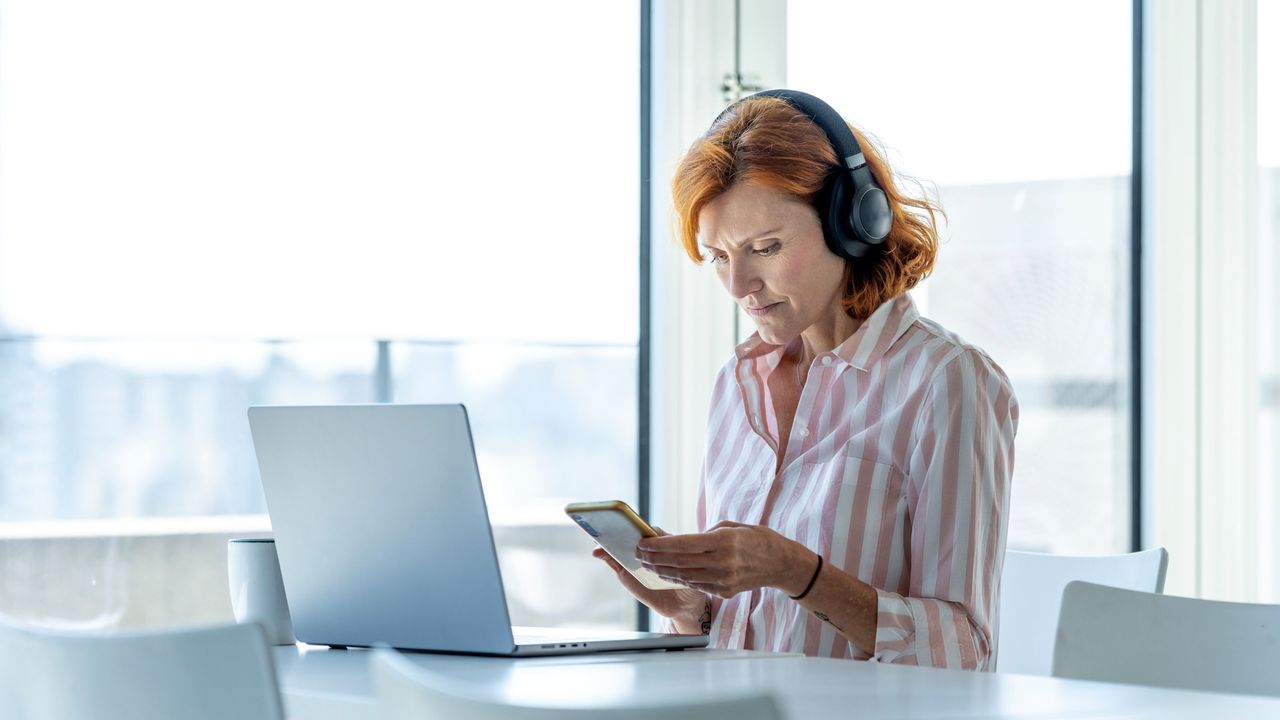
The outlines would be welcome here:
[[[0,612],[229,616],[147,543],[269,529],[244,409],[394,400],[468,405],[517,623],[634,623],[559,507],[637,488],[637,3],[0,14]]]

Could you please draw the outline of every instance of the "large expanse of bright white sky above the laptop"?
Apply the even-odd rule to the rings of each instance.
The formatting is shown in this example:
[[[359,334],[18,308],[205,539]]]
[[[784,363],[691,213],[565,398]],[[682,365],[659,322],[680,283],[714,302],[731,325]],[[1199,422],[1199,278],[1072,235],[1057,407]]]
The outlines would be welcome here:
[[[4,3],[4,319],[634,342],[639,10],[554,8]]]

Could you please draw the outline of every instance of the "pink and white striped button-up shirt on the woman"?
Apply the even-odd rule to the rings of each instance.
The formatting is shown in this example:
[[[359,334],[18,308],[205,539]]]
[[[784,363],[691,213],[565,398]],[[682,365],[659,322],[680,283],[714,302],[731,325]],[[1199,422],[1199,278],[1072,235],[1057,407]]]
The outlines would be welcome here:
[[[876,651],[776,588],[716,598],[712,644],[993,669],[1018,427],[1009,379],[904,293],[814,359],[774,474],[767,378],[782,351],[755,334],[717,378],[698,525],[767,525],[874,587]]]

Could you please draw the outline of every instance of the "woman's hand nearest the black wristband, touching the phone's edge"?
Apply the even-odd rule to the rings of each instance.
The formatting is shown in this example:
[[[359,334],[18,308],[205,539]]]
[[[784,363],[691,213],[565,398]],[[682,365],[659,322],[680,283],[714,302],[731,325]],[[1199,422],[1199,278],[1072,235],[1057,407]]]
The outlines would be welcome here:
[[[769,528],[719,523],[705,533],[640,541],[636,557],[659,577],[719,597],[762,587],[804,589],[813,551]]]

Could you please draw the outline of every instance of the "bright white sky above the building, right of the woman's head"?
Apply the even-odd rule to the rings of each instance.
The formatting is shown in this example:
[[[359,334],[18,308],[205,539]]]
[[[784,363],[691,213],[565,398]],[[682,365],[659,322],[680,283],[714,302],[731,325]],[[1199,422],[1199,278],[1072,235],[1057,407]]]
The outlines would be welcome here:
[[[787,3],[787,82],[937,184],[1125,176],[1130,4]]]

